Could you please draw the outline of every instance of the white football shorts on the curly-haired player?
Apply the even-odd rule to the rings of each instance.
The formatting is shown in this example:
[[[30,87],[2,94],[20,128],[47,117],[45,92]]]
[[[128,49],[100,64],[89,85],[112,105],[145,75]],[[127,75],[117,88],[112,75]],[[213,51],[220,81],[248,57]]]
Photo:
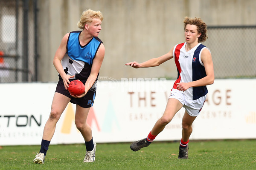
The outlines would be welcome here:
[[[183,91],[173,88],[168,99],[170,98],[179,100],[190,116],[198,116],[203,108],[206,95],[196,100],[187,99]]]

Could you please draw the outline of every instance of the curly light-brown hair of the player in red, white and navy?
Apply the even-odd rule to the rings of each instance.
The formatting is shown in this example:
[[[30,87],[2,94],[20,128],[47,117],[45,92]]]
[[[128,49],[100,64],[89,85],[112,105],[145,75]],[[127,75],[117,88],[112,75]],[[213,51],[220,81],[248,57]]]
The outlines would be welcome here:
[[[201,36],[198,37],[198,42],[204,42],[207,40],[207,38],[208,38],[207,37],[207,25],[206,25],[206,23],[204,23],[203,20],[201,20],[201,18],[185,17],[183,20],[183,23],[184,23],[184,30],[185,30],[187,24],[197,26],[198,34],[201,33]]]

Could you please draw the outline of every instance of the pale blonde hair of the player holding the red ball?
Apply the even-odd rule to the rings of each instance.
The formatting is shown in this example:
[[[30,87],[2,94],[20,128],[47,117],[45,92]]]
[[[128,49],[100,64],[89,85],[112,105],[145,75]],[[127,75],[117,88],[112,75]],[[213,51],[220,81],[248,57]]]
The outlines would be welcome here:
[[[83,11],[83,13],[81,14],[81,17],[77,23],[77,26],[80,29],[84,29],[85,24],[91,23],[94,18],[98,18],[102,21],[103,15],[101,11],[93,11],[91,9],[87,9],[86,11]]]

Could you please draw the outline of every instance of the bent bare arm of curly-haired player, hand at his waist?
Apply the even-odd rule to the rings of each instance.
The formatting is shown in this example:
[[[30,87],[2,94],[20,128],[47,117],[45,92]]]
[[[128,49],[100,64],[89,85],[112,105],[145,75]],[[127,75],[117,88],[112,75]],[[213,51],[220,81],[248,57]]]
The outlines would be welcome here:
[[[205,48],[201,53],[201,60],[204,63],[204,68],[206,72],[206,77],[199,79],[193,82],[180,82],[177,83],[177,89],[181,91],[186,91],[190,87],[199,87],[205,85],[211,85],[214,82],[214,70],[213,70],[213,62],[212,55],[210,51]]]

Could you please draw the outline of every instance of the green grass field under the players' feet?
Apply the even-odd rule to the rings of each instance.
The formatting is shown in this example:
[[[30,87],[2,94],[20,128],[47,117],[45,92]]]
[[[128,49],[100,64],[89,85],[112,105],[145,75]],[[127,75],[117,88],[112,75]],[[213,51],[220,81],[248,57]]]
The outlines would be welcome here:
[[[177,159],[178,142],[153,142],[137,152],[129,145],[99,143],[93,163],[83,163],[84,144],[50,145],[45,164],[33,163],[40,146],[3,146],[0,170],[256,169],[256,140],[190,141],[189,159]]]

